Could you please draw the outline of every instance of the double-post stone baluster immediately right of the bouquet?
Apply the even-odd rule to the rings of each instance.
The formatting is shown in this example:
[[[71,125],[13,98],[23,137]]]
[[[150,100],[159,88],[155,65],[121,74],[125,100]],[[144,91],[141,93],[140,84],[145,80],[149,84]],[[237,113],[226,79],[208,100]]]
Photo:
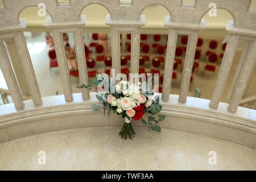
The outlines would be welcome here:
[[[172,69],[174,67],[175,50],[177,35],[188,35],[187,52],[185,55],[185,63],[183,68],[183,76],[180,85],[179,102],[185,103],[187,101],[187,95],[189,90],[189,83],[191,78],[191,72],[193,68],[193,62],[196,52],[196,44],[198,39],[199,30],[206,28],[205,19],[201,20],[200,24],[192,23],[177,23],[171,22],[170,16],[166,16],[164,19],[164,25],[169,27],[166,63],[164,66],[164,80],[163,80],[163,93],[162,100],[168,101],[171,89]]]

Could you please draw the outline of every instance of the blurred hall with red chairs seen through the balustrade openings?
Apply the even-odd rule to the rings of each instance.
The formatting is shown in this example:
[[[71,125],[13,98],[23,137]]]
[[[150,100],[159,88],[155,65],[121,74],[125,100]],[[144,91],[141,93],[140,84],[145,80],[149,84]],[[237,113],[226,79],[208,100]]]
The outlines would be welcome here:
[[[68,0],[59,0],[63,6],[68,5]],[[193,5],[195,0],[184,0],[184,4]],[[0,6],[3,6],[0,0]],[[46,17],[38,16],[38,7],[27,7],[20,13],[20,19],[27,19],[27,28],[24,35],[27,47],[30,52],[32,64],[42,97],[63,94],[63,86],[57,65],[55,48],[52,42],[51,30],[43,26]],[[256,10],[256,0],[251,1],[250,10]],[[108,73],[112,65],[110,27],[106,26],[105,19],[109,11],[101,5],[89,5],[82,11],[86,15],[86,25],[82,28],[85,43],[85,56],[88,66],[89,81],[96,73]],[[143,10],[142,15],[146,15],[146,26],[141,28],[141,56],[139,63],[140,73],[159,73],[159,92],[162,92],[162,82],[164,73],[164,62],[166,58],[168,28],[164,27],[164,16],[169,15],[168,11],[160,5],[151,5]],[[49,16],[47,14],[47,16]],[[214,83],[220,69],[220,64],[225,51],[228,34],[225,31],[226,21],[232,20],[233,16],[226,10],[217,9],[217,16],[203,16],[207,23],[207,29],[200,31],[197,42],[197,50],[189,87],[189,96],[211,99]],[[131,34],[121,32],[121,72],[130,72],[130,52]],[[79,85],[79,72],[77,71],[76,55],[73,34],[63,35],[65,53],[69,66],[73,92],[80,92],[76,88]],[[185,59],[188,37],[179,35],[177,39],[174,73],[170,76],[172,86],[170,93],[179,94],[181,76]],[[19,88],[23,94],[23,99],[29,99],[30,93],[27,83],[22,78],[24,73],[16,61],[15,45],[13,40],[5,40],[5,45],[9,50],[9,58],[13,64]],[[236,68],[241,64],[240,56],[246,42],[238,44],[236,55],[230,69],[228,81],[224,88],[221,101],[227,102],[230,97],[230,86],[236,73]],[[255,58],[256,59],[256,58]],[[256,109],[256,72],[254,68],[250,83],[247,86],[242,106]],[[94,90],[92,90],[94,91]],[[5,78],[0,70],[0,104],[12,102]],[[245,102],[245,101],[251,102]]]

